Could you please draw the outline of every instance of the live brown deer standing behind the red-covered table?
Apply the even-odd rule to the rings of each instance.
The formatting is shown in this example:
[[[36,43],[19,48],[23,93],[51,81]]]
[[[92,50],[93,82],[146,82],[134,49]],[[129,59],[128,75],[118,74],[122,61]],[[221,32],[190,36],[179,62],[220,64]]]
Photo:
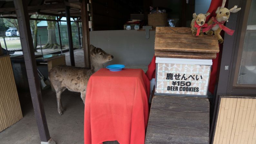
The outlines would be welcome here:
[[[59,65],[53,67],[49,72],[51,85],[56,91],[58,113],[63,114],[63,106],[61,102],[61,93],[68,89],[69,91],[80,92],[81,99],[85,102],[86,86],[90,76],[103,68],[103,64],[112,61],[113,56],[90,45],[91,69]]]

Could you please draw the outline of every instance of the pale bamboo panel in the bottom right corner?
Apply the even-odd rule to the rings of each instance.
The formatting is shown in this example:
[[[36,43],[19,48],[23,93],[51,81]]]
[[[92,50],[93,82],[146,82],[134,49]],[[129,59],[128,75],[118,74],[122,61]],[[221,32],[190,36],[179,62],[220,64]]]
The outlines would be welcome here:
[[[213,144],[255,144],[255,109],[255,97],[222,97]]]

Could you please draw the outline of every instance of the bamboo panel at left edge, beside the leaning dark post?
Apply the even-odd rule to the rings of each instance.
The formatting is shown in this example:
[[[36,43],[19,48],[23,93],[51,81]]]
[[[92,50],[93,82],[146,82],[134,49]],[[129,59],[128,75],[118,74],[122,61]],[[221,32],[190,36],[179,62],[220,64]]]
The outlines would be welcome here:
[[[10,56],[0,56],[0,132],[22,119]]]

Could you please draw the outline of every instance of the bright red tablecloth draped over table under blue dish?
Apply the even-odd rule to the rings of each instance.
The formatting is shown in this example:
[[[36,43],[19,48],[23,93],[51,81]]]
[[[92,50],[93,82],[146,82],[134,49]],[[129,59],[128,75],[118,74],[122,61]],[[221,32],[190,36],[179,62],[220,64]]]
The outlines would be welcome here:
[[[141,69],[95,72],[86,90],[84,143],[144,144],[149,94],[150,82]]]

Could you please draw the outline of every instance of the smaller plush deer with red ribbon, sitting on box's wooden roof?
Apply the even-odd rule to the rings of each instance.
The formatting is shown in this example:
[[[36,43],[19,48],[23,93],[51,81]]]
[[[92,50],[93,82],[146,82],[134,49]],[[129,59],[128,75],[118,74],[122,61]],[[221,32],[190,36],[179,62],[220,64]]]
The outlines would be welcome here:
[[[196,15],[196,13],[193,14],[193,19],[191,21],[191,31],[193,35],[198,36],[199,34],[202,35],[202,29],[203,27],[207,27],[208,24],[205,24],[205,20],[206,17],[208,15],[210,15],[211,13],[207,13],[207,14],[198,14]]]

